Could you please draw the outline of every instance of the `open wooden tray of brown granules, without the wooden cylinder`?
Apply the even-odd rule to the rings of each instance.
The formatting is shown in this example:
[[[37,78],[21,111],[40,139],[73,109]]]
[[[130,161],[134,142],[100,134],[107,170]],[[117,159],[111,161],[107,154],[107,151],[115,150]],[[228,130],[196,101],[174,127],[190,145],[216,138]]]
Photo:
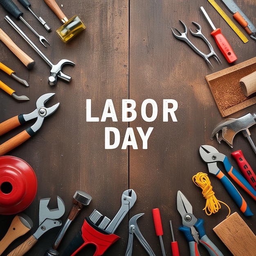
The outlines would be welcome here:
[[[205,76],[222,117],[256,103],[256,95],[246,97],[240,79],[256,71],[256,57]]]

